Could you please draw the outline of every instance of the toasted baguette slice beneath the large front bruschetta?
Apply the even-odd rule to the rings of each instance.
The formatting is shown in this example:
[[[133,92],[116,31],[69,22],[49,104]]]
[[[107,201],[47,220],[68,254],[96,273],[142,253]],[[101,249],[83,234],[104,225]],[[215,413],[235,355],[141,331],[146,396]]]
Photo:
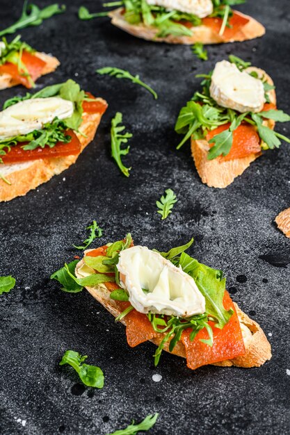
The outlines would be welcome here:
[[[91,249],[85,251],[85,254],[90,250]],[[76,264],[76,277],[83,277],[81,274],[79,274],[79,269],[84,264],[85,263],[83,262],[83,260],[79,261],[79,263]],[[86,287],[86,289],[92,295],[92,297],[95,297],[95,299],[97,299],[97,301],[102,304],[105,309],[113,314],[115,318],[120,315],[121,311],[118,307],[118,304],[116,304],[115,301],[111,299],[110,291],[106,288],[104,284],[96,287]],[[241,330],[243,334],[246,353],[243,356],[239,356],[231,360],[221,361],[219,363],[215,363],[214,365],[225,367],[237,366],[244,368],[260,367],[268,359],[271,359],[271,345],[270,343],[268,343],[268,340],[261,327],[259,327],[259,325],[254,322],[254,320],[248,318],[248,315],[243,313],[243,311],[241,311],[236,304],[235,307],[239,317],[239,321],[241,323]],[[126,317],[123,318],[121,322],[126,325]],[[152,341],[152,343],[154,343],[155,345],[159,346],[162,338],[163,336],[160,335],[160,337],[153,338],[150,341]],[[166,352],[182,356],[182,358],[186,358],[186,351],[182,341],[179,341],[177,343],[172,352],[170,352],[170,350],[168,349],[168,343],[166,343],[164,350],[166,350]]]

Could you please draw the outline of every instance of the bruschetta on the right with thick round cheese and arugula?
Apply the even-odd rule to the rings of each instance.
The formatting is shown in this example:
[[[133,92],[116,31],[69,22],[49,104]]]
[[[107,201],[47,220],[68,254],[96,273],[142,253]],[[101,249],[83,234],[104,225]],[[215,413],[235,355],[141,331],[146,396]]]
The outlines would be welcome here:
[[[202,182],[225,188],[261,156],[289,138],[273,131],[290,116],[277,110],[275,86],[266,72],[236,56],[218,62],[204,74],[201,92],[182,108],[175,131],[191,140],[191,152]]]

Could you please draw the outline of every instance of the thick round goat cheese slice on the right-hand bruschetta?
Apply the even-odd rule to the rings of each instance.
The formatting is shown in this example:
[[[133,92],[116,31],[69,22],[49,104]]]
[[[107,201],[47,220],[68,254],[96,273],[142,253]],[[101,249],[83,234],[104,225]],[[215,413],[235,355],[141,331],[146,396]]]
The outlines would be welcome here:
[[[241,72],[234,63],[227,60],[216,64],[209,92],[219,106],[232,108],[240,113],[258,113],[266,102],[261,80],[247,72]]]

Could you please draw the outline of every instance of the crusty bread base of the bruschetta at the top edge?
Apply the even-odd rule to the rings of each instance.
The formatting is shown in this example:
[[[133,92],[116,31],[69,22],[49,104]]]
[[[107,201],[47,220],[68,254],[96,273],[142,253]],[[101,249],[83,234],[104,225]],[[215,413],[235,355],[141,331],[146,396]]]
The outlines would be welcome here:
[[[122,28],[122,30],[136,36],[137,38],[143,38],[145,40],[150,40],[154,42],[168,42],[168,44],[195,44],[195,42],[201,42],[202,44],[221,44],[223,42],[235,42],[235,41],[245,41],[254,38],[259,38],[264,35],[265,28],[254,18],[244,15],[240,12],[236,14],[241,15],[241,17],[248,18],[250,21],[245,24],[234,35],[234,38],[230,40],[225,40],[222,36],[218,35],[212,31],[210,27],[207,26],[193,26],[191,31],[193,34],[191,36],[174,36],[168,35],[166,38],[156,38],[158,31],[153,26],[145,26],[145,24],[129,24],[122,15],[123,8],[118,8],[112,10],[108,16],[111,17],[111,23],[114,26]]]

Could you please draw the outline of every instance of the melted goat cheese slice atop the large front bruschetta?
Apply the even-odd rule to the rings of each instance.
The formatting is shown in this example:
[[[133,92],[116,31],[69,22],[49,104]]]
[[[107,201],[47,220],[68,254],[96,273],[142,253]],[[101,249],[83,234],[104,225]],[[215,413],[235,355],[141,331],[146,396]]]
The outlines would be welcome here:
[[[124,249],[117,268],[120,285],[140,313],[178,317],[204,313],[205,299],[194,279],[158,252],[143,246]]]

